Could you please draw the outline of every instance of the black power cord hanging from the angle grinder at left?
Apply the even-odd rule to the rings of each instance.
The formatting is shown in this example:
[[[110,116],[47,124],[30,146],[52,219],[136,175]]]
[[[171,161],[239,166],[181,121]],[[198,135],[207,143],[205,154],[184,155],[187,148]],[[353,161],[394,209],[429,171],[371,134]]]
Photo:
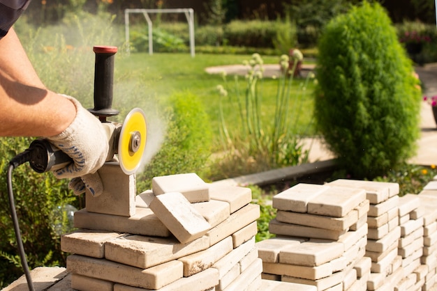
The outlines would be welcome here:
[[[8,196],[9,196],[9,206],[10,206],[10,214],[12,216],[12,221],[14,224],[15,230],[15,239],[17,239],[18,253],[20,254],[21,265],[24,270],[24,275],[27,279],[27,285],[30,291],[34,291],[34,283],[32,282],[32,278],[30,276],[29,265],[27,265],[26,253],[24,252],[23,241],[21,239],[20,226],[18,224],[17,212],[15,211],[15,202],[14,202],[14,194],[12,189],[12,171],[17,166],[24,164],[25,162],[29,162],[31,158],[31,151],[24,150],[13,159],[10,160],[8,166]]]

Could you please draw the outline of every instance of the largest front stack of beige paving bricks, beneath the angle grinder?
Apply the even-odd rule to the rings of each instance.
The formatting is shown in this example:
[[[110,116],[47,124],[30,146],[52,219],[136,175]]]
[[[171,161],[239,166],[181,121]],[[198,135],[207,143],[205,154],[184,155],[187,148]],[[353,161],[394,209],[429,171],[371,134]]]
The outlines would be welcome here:
[[[77,290],[257,290],[258,205],[251,190],[193,173],[157,177],[121,216],[75,213],[63,251]],[[104,194],[102,194],[104,195]],[[100,196],[99,196],[100,197]],[[125,203],[126,204],[126,203]]]

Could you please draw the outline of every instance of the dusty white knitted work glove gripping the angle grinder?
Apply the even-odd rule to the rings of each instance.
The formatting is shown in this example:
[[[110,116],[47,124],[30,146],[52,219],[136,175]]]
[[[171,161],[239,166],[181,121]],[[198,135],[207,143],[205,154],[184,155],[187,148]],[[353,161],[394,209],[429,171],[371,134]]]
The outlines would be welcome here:
[[[98,196],[103,192],[103,184],[97,170],[108,156],[108,135],[98,118],[84,109],[80,102],[71,96],[63,96],[75,104],[76,117],[64,132],[47,137],[47,140],[70,156],[73,163],[53,173],[59,179],[73,178],[68,188],[75,195],[89,189],[91,194]]]

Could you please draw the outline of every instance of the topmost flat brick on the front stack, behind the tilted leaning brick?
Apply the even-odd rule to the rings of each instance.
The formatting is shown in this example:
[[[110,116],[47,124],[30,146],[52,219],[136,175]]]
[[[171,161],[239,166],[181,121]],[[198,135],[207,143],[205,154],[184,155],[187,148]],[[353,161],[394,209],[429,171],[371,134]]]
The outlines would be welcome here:
[[[156,196],[179,192],[191,203],[209,201],[209,185],[195,173],[154,177],[151,189]]]

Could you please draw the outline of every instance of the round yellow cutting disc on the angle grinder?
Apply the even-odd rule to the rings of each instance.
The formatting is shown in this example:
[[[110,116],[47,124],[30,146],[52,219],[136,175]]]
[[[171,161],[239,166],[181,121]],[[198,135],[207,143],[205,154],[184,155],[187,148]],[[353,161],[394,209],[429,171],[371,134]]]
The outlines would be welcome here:
[[[127,175],[135,173],[141,165],[147,139],[145,113],[132,109],[124,119],[119,137],[119,162],[121,170]]]

